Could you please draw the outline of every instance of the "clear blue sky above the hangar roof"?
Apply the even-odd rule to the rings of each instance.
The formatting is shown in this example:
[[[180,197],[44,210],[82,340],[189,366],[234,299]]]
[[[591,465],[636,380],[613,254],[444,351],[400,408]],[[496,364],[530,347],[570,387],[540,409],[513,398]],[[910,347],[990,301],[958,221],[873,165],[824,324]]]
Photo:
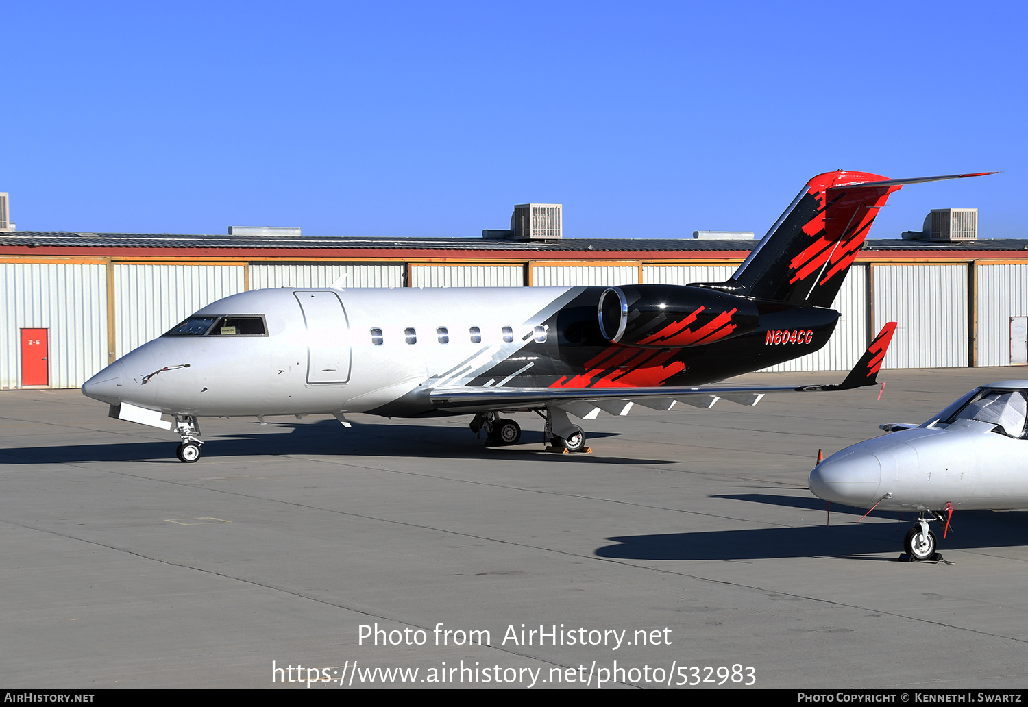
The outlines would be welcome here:
[[[1026,237],[1028,4],[3,2],[19,230],[566,237],[771,225],[811,176]]]

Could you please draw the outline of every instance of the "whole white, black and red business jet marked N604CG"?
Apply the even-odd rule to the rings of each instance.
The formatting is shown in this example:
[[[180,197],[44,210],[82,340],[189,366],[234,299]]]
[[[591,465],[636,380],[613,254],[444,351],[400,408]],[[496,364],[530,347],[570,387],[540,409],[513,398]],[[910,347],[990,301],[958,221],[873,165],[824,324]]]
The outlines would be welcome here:
[[[874,382],[891,330],[841,385],[703,386],[823,346],[830,308],[868,229],[904,184],[861,172],[811,179],[724,283],[688,286],[256,290],[204,307],[90,378],[82,393],[111,416],[170,430],[178,457],[200,456],[197,418],[366,412],[473,414],[498,444],[515,444],[535,411],[567,451],[585,447],[568,414],[624,415],[719,398]],[[888,328],[886,328],[888,329]]]

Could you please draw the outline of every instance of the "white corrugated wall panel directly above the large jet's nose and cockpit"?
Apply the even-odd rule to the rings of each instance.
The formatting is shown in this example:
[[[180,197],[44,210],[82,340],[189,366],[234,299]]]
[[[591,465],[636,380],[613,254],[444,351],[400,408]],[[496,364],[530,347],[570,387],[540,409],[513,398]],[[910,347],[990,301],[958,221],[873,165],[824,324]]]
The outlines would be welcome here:
[[[116,356],[157,338],[200,307],[243,292],[244,267],[115,265]]]

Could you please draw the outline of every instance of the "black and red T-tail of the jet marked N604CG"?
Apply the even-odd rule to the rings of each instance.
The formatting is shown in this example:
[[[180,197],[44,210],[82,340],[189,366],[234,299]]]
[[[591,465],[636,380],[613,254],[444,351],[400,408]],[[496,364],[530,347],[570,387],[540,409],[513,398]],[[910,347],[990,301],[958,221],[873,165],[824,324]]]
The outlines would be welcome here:
[[[995,173],[913,179],[845,170],[817,175],[731,278],[696,285],[752,299],[831,306],[889,194],[905,184],[990,174]]]

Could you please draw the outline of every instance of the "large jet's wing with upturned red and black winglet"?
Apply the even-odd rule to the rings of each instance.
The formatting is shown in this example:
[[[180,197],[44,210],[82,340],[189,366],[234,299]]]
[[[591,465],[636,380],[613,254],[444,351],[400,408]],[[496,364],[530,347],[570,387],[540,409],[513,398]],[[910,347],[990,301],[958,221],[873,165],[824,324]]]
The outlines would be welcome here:
[[[849,390],[865,385],[875,385],[878,371],[895,322],[886,324],[867,352],[838,385],[698,385],[695,387],[620,387],[620,388],[525,388],[454,386],[437,387],[430,393],[432,404],[450,412],[477,412],[484,410],[541,410],[559,408],[576,417],[593,419],[600,410],[612,415],[627,415],[632,405],[654,410],[670,410],[676,403],[699,408],[710,408],[721,399],[740,405],[757,405],[768,393],[819,393],[823,390]]]

